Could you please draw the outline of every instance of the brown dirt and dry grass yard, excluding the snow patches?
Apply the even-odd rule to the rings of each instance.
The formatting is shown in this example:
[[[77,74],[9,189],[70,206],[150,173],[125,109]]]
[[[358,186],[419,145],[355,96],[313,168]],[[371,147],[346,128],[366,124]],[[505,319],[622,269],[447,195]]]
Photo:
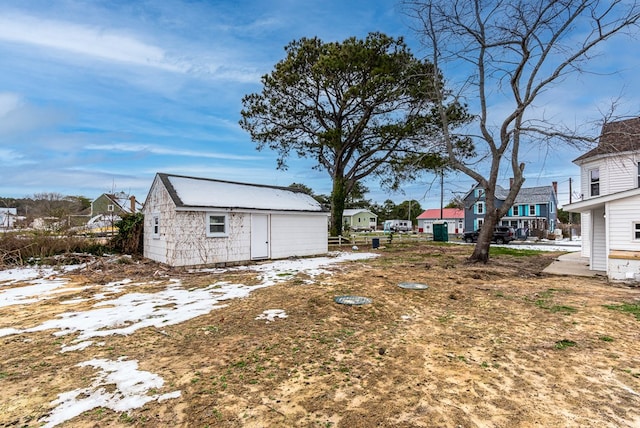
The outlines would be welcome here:
[[[127,411],[88,406],[58,426],[640,426],[640,321],[610,306],[637,304],[640,290],[541,274],[560,253],[495,256],[485,266],[465,262],[471,249],[382,248],[377,258],[282,276],[195,318],[85,348],[65,351],[79,333],[26,332],[95,308],[115,281],[109,298],[177,287],[176,279],[192,291],[259,282],[251,270],[94,263],[65,274],[69,282],[47,299],[0,306],[0,427],[55,425],[47,418],[60,394],[94,381],[96,366],[83,365],[92,360],[135,360],[163,380],[148,396],[179,396]],[[26,284],[0,282],[0,294]],[[372,303],[335,303],[342,295]],[[283,312],[264,319],[275,309]],[[115,388],[105,384],[103,393]]]

